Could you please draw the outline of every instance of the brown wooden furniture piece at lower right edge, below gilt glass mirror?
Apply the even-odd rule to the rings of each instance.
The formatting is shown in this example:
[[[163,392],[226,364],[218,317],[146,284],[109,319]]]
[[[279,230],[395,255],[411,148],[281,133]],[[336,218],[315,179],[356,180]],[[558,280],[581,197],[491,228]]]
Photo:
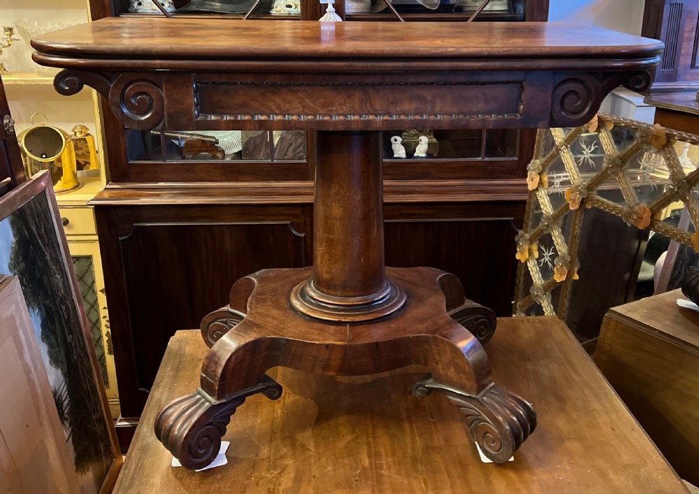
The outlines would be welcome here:
[[[595,362],[677,473],[699,484],[699,313],[680,290],[607,312]]]

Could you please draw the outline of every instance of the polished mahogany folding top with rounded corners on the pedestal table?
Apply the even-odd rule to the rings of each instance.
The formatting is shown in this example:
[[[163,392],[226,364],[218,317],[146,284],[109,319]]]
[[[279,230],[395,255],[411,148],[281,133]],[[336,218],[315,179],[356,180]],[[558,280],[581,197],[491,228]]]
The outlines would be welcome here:
[[[264,40],[264,42],[261,42]],[[605,59],[657,62],[663,43],[563,22],[341,22],[110,17],[41,34],[43,55],[178,59]]]

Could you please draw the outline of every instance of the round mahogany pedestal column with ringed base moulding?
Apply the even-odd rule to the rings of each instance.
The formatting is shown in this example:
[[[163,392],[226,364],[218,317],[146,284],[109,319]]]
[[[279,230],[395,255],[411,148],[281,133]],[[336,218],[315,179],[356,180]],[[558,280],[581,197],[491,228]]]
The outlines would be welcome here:
[[[317,134],[313,276],[291,292],[306,316],[359,323],[405,304],[384,266],[380,146],[380,132]]]

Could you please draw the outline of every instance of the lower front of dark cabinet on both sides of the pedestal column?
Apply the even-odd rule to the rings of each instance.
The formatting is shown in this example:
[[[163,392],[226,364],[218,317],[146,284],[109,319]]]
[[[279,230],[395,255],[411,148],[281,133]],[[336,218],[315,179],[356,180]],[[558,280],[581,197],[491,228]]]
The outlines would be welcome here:
[[[263,267],[310,264],[312,186],[292,185],[287,191],[253,184],[113,186],[95,200],[109,301],[122,308],[110,316],[110,327],[124,416],[137,417],[143,410],[167,339],[226,304],[238,277]],[[442,202],[433,202],[435,197]],[[387,264],[456,274],[470,299],[506,316],[512,310],[508,294],[514,292],[516,262],[510,223],[524,214],[525,197],[521,183],[504,190],[478,181],[389,184]],[[273,250],[259,248],[269,232],[289,221],[305,237],[285,229]],[[132,237],[126,237],[129,232]],[[239,255],[241,248],[250,253],[246,244],[255,246],[255,255]],[[160,308],[157,313],[152,304]]]

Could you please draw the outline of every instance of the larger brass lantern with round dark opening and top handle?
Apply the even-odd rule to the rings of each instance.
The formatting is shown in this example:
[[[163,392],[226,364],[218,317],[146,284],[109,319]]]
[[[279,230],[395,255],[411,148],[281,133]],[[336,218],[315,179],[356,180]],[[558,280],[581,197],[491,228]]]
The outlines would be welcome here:
[[[36,113],[32,115],[32,124],[34,116]],[[34,124],[17,136],[17,140],[29,177],[48,170],[56,192],[66,192],[80,185],[75,171],[75,148],[67,132],[46,123]]]

